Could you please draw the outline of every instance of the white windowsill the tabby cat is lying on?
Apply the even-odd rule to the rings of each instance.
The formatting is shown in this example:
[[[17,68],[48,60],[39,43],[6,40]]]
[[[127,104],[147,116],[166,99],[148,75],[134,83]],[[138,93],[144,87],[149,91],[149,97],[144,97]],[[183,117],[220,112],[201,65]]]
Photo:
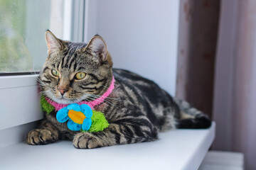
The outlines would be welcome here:
[[[98,149],[75,149],[72,142],[0,148],[0,169],[198,169],[213,142],[208,130],[173,130],[155,142]]]

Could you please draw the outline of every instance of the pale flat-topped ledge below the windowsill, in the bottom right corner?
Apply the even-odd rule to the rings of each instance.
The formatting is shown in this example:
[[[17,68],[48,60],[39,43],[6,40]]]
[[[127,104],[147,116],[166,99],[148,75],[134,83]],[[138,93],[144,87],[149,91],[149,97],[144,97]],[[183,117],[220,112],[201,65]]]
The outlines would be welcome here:
[[[199,170],[242,170],[244,156],[238,152],[210,151],[206,154]]]

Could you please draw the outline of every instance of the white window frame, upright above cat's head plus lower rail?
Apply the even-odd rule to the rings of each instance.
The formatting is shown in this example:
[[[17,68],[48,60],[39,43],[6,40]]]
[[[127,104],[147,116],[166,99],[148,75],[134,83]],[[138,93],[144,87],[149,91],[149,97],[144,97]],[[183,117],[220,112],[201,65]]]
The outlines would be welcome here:
[[[63,39],[83,41],[85,33],[85,0],[64,1]],[[43,118],[40,107],[39,72],[0,74],[0,132],[7,128]]]

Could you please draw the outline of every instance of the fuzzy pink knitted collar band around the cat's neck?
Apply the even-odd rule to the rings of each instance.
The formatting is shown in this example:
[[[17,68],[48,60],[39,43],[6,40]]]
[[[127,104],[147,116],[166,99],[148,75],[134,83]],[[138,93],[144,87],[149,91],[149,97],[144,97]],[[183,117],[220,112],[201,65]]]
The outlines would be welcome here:
[[[80,101],[78,104],[87,104],[88,106],[90,106],[90,108],[95,109],[94,107],[99,105],[100,103],[102,103],[105,98],[107,98],[107,96],[110,96],[110,94],[112,93],[113,89],[114,89],[114,77],[112,78],[110,87],[107,89],[107,91],[102,94],[102,96],[100,96],[100,98],[95,99],[95,101]],[[48,103],[50,103],[50,105],[52,105],[56,111],[59,111],[61,108],[65,108],[66,106],[68,106],[68,104],[62,104],[62,103],[56,103],[55,101],[50,100],[50,98],[46,98],[46,101]]]

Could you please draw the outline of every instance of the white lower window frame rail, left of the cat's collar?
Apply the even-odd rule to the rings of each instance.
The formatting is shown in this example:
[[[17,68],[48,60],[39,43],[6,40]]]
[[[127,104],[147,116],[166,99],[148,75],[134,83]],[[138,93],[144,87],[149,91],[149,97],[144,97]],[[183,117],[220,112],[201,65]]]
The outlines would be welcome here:
[[[0,77],[0,130],[43,118],[36,77]]]

